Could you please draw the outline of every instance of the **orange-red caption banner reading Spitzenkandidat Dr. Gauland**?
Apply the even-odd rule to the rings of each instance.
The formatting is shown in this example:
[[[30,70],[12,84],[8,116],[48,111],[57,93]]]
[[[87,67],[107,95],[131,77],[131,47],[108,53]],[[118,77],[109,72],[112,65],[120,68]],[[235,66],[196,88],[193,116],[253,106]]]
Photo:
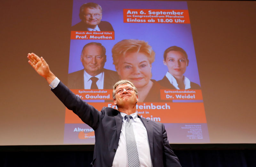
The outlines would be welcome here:
[[[82,100],[113,100],[112,89],[71,89]]]

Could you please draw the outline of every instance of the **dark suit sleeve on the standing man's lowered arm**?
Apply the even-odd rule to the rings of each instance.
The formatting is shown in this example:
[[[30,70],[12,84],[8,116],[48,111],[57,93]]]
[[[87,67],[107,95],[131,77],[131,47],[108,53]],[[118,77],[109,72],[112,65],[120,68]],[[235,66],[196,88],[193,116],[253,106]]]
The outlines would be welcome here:
[[[167,133],[163,127],[163,162],[166,167],[181,167],[178,157],[172,151],[172,148],[167,140]]]

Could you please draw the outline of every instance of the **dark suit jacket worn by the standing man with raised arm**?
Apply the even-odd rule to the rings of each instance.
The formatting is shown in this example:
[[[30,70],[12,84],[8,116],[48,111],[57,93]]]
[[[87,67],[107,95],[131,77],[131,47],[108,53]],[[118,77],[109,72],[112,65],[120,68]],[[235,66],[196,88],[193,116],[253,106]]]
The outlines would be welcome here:
[[[63,83],[52,92],[81,120],[95,131],[92,164],[95,167],[112,166],[122,127],[122,116],[116,109],[103,107],[101,112],[87,104]],[[140,118],[140,117],[139,117]],[[164,124],[140,118],[148,132],[151,161],[154,167],[181,167],[167,140]]]

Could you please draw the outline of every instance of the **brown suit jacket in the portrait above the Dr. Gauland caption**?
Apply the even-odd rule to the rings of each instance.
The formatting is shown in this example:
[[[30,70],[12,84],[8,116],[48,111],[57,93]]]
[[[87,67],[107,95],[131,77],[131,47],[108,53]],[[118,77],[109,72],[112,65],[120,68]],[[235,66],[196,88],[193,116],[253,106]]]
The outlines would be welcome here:
[[[113,89],[114,84],[120,80],[116,71],[103,69],[103,89]],[[68,74],[69,89],[84,89],[84,69]]]

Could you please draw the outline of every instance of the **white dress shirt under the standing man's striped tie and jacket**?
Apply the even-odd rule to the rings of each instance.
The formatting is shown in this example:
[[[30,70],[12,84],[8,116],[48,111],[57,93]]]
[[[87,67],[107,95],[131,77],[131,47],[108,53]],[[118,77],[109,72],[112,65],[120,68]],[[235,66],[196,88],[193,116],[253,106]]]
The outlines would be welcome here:
[[[121,113],[121,112],[120,112]],[[120,138],[118,142],[118,147],[116,149],[116,154],[114,157],[113,167],[128,167],[128,158],[126,151],[126,139],[125,139],[125,123],[124,116],[126,113],[121,113],[122,116],[122,128],[120,133]],[[138,118],[137,113],[131,114],[132,116],[132,127],[135,135],[140,167],[152,167],[149,142],[148,142],[148,133],[147,129],[143,125],[140,118]]]

